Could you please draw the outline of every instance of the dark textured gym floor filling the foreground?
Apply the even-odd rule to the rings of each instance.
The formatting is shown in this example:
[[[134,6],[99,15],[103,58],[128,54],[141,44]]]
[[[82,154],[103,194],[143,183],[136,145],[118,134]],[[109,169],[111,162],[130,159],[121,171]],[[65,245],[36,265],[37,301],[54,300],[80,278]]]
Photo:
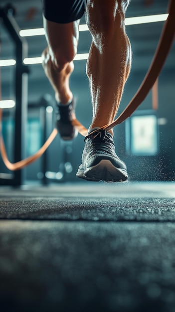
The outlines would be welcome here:
[[[2,186],[0,307],[174,312],[175,183]]]

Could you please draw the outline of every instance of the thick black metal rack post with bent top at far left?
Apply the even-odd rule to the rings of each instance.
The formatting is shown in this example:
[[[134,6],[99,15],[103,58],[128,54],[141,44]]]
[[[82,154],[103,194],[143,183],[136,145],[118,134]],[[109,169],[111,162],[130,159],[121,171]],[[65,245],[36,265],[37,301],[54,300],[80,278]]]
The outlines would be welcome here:
[[[13,8],[7,6],[0,8],[0,17],[15,44],[16,70],[15,70],[15,132],[14,132],[14,162],[24,158],[25,127],[27,122],[27,73],[28,67],[23,64],[27,56],[27,41],[19,36],[19,27],[12,15]],[[23,170],[14,171],[13,185],[23,183]]]

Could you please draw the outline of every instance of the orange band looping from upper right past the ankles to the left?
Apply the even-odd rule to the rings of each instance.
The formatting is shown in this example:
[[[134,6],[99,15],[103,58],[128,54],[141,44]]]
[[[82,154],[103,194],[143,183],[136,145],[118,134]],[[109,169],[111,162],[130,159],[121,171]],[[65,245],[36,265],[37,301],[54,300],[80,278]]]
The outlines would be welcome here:
[[[110,129],[114,128],[116,125],[119,125],[122,122],[124,122],[128,117],[130,117],[133,114],[133,112],[138,108],[138,106],[144,101],[149,91],[155,84],[162,70],[162,67],[165,63],[167,55],[169,54],[171,45],[174,40],[174,35],[175,35],[175,1],[174,0],[170,0],[168,12],[169,12],[169,16],[167,18],[167,21],[164,24],[164,28],[162,31],[162,35],[161,35],[155,56],[153,58],[152,64],[140,88],[138,89],[137,93],[135,94],[131,102],[128,104],[126,109],[123,111],[123,113],[114,122],[112,122],[111,124],[105,125],[101,127],[100,129],[109,131]],[[49,147],[51,142],[54,140],[54,138],[58,134],[57,129],[54,128],[49,138],[44,143],[44,145],[39,149],[38,152],[36,152],[33,156],[29,156],[18,162],[11,163],[7,158],[5,146],[4,146],[4,142],[2,138],[1,119],[2,119],[2,109],[0,109],[0,153],[1,153],[4,164],[9,170],[22,169],[28,164],[30,164],[31,162],[38,159],[40,156],[42,156],[42,154],[46,151],[46,149]],[[87,136],[88,130],[77,119],[72,121],[72,125],[77,128],[78,132],[82,136],[84,137]]]

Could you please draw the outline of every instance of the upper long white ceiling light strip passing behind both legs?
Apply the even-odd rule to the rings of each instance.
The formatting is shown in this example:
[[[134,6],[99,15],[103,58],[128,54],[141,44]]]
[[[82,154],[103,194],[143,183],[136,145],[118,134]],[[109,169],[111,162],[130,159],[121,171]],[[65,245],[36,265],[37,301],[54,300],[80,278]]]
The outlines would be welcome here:
[[[169,14],[156,14],[156,15],[146,15],[146,16],[136,16],[136,17],[127,17],[125,18],[125,25],[137,25],[145,23],[153,23],[158,21],[165,21]],[[80,31],[88,31],[89,28],[86,24],[81,24],[79,26]],[[33,29],[22,29],[19,31],[21,37],[28,36],[40,36],[44,35],[44,28],[33,28]]]

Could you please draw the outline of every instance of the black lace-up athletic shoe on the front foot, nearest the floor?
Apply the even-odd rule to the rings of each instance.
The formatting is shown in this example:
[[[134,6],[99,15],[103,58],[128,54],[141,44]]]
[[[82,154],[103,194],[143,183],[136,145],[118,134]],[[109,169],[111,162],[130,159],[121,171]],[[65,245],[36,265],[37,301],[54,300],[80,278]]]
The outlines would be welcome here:
[[[76,176],[88,181],[121,182],[128,179],[126,164],[116,155],[111,134],[97,130],[85,141],[82,164]]]

